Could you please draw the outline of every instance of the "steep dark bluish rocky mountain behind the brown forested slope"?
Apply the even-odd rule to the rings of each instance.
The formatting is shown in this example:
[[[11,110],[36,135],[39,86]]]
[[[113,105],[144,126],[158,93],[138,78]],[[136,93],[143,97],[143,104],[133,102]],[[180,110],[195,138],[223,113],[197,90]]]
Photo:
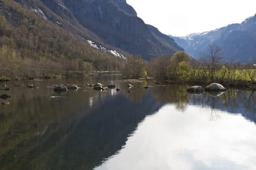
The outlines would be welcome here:
[[[183,50],[153,33],[126,0],[16,1],[66,31],[124,55],[151,60]]]

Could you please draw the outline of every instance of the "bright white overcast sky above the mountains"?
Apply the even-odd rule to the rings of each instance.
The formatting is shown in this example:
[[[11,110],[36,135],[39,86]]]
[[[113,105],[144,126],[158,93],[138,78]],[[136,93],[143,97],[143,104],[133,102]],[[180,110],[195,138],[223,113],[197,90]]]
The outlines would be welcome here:
[[[241,23],[256,14],[256,0],[126,0],[145,23],[184,36]]]

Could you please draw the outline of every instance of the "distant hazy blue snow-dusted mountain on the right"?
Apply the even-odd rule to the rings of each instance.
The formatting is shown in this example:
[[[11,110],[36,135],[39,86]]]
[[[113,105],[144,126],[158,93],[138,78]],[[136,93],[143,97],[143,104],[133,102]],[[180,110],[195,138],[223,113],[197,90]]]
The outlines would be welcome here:
[[[256,15],[240,24],[185,37],[171,37],[195,58],[199,58],[199,53],[205,51],[209,44],[215,44],[222,48],[226,61],[248,63],[256,59]]]

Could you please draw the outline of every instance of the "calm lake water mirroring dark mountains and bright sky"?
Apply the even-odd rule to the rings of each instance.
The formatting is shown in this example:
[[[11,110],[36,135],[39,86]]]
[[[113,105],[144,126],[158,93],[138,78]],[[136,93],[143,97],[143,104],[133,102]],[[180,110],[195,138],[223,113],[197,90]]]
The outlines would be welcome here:
[[[97,82],[121,91],[85,85]],[[193,95],[119,76],[6,84],[0,170],[256,170],[255,92]],[[81,88],[56,93],[56,84]]]

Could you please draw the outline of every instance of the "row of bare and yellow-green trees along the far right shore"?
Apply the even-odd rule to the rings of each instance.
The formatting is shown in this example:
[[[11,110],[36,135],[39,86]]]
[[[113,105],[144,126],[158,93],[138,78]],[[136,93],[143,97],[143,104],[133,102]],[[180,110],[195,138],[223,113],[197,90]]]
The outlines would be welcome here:
[[[136,68],[133,69],[133,66]],[[125,62],[122,73],[127,78],[149,76],[158,81],[219,82],[224,85],[256,83],[256,67],[253,63],[225,62],[221,48],[216,45],[209,45],[207,51],[200,53],[198,60],[184,51],[157,57],[150,62],[143,61],[140,56],[133,56]]]

